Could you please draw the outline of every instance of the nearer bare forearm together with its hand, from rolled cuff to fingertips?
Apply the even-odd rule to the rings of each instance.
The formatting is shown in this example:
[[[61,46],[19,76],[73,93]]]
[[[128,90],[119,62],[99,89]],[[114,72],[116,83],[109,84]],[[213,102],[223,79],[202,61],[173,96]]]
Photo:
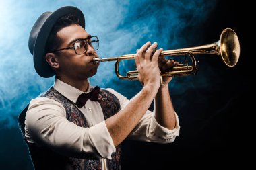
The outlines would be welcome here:
[[[139,120],[150,108],[150,104],[158,93],[160,87],[158,56],[162,52],[162,48],[156,50],[152,56],[156,46],[156,43],[151,45],[150,42],[147,42],[137,50],[135,56],[135,62],[139,71],[138,78],[144,86],[143,89],[117,114],[106,119],[106,127],[115,146],[123,142],[135,126],[137,126]]]

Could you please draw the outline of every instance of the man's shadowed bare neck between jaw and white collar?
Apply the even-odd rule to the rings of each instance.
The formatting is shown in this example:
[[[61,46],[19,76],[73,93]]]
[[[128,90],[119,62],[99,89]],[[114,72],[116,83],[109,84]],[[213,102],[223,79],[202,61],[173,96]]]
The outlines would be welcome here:
[[[68,79],[67,77],[57,77],[59,80],[63,81],[64,83],[67,83],[68,85],[71,85],[72,87],[75,87],[76,89],[79,89],[80,91],[87,91],[89,87],[88,79]]]

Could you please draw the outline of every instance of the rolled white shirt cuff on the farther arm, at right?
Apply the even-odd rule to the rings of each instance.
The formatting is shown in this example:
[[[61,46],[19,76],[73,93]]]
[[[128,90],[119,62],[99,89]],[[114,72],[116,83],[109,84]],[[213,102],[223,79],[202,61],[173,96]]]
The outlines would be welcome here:
[[[152,116],[151,119],[151,126],[150,126],[150,136],[154,138],[155,140],[159,140],[160,138],[164,139],[166,143],[173,142],[176,136],[179,136],[179,118],[178,115],[175,113],[176,118],[176,126],[174,129],[169,130],[168,128],[165,128],[164,126],[161,126],[156,121],[155,116]]]

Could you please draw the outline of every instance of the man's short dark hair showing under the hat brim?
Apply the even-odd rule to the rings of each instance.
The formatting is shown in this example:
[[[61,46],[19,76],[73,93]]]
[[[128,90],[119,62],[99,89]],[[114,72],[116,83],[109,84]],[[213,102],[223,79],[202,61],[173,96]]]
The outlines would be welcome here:
[[[46,47],[45,47],[46,52],[57,50],[57,48],[59,48],[59,45],[61,44],[61,40],[57,37],[57,32],[59,32],[59,30],[61,30],[64,27],[70,26],[71,24],[79,24],[79,18],[76,15],[71,15],[71,14],[64,15],[63,17],[60,17],[57,20],[46,42]]]

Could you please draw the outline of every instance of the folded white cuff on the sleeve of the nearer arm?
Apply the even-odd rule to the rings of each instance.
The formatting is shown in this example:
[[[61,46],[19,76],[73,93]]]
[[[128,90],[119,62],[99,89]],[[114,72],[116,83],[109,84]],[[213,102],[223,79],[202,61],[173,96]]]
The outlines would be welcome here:
[[[111,155],[116,151],[113,140],[106,128],[105,121],[89,128],[89,136],[92,144],[102,158],[112,159]]]

